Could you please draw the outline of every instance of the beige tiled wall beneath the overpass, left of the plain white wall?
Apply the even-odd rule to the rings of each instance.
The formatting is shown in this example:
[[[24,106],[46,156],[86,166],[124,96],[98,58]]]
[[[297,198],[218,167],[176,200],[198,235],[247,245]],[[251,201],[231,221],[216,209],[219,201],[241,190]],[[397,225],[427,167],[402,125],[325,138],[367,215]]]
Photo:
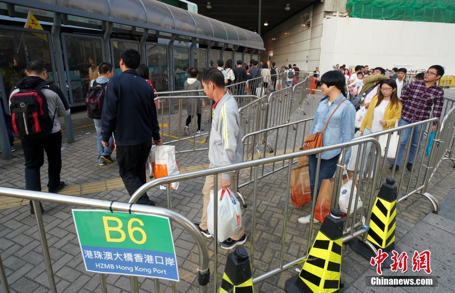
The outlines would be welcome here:
[[[263,34],[266,52],[262,53],[261,60],[265,61],[268,51],[273,50],[270,60],[275,62],[277,67],[296,64],[300,70],[313,71],[319,66],[323,8],[323,3],[312,5]],[[302,24],[300,16],[305,13],[309,14],[310,28]],[[276,40],[272,40],[273,38]]]

